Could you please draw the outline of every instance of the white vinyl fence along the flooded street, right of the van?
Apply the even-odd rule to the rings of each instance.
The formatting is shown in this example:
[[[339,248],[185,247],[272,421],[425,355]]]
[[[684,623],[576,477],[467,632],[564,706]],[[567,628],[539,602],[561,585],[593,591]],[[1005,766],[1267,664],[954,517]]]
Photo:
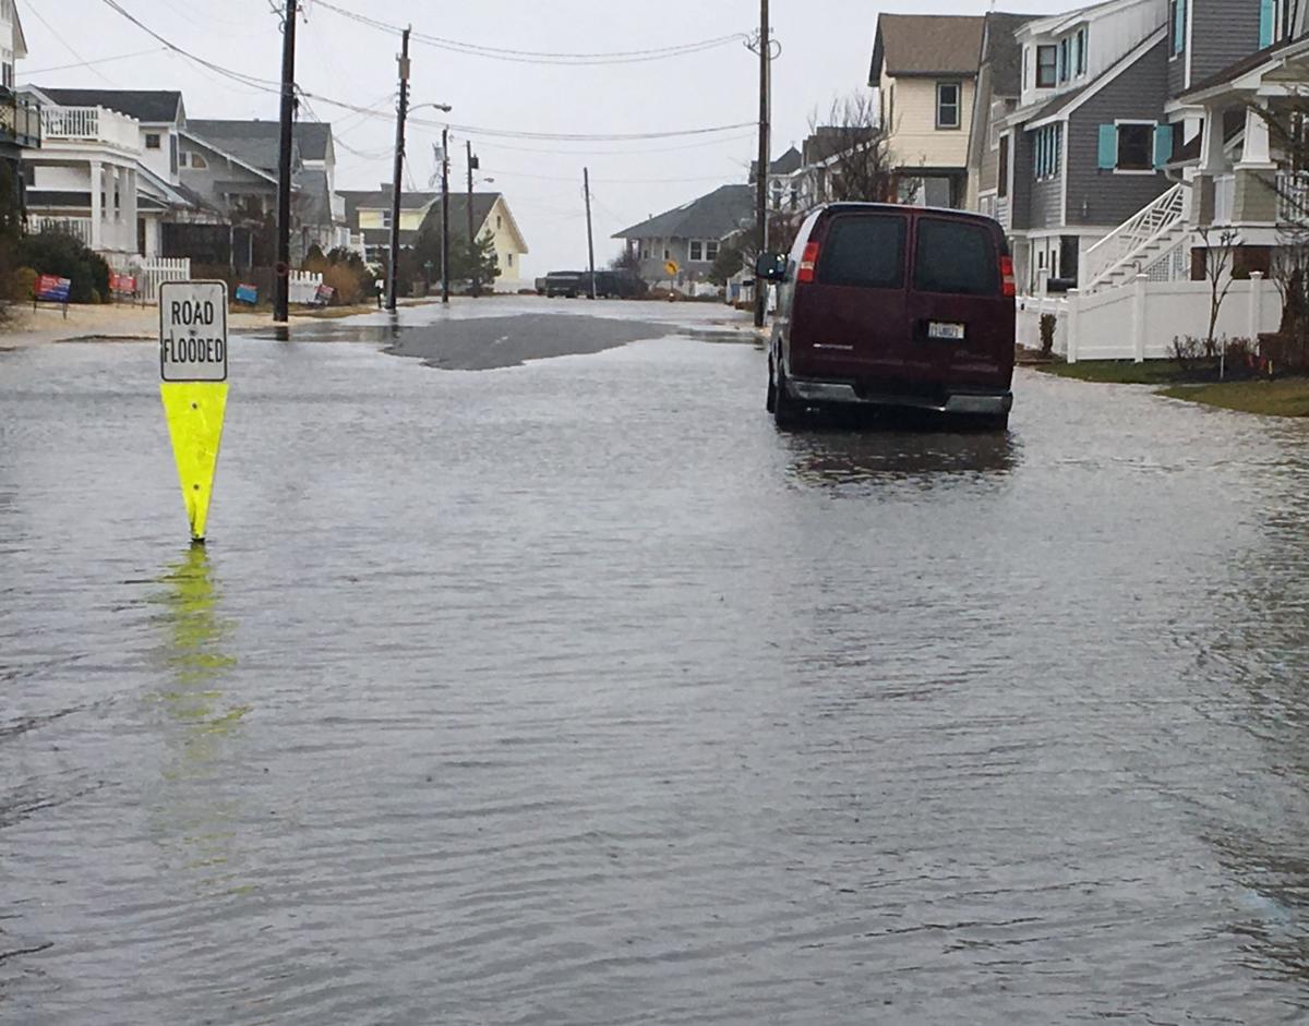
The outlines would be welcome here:
[[[1101,292],[1069,289],[1067,300],[1029,297],[1018,311],[1018,342],[1039,347],[1042,313],[1059,319],[1055,352],[1079,360],[1162,360],[1172,356],[1173,340],[1203,339],[1210,330],[1208,281],[1151,281],[1138,275],[1127,285]],[[1258,271],[1247,281],[1233,281],[1219,310],[1216,338],[1246,338],[1276,331],[1282,322],[1282,294]]]

